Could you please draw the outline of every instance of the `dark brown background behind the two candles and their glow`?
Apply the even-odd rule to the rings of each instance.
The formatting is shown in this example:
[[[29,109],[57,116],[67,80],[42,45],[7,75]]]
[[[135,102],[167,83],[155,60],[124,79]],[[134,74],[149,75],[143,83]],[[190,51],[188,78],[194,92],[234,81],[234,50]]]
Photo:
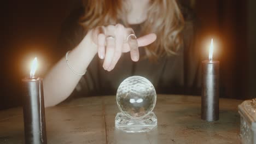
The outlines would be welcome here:
[[[203,49],[203,41],[211,37],[217,41],[224,87],[220,96],[254,98],[256,1],[183,1],[191,5],[197,17],[197,46]],[[61,25],[77,7],[79,0],[1,2],[0,110],[21,104],[21,79],[29,74],[28,63],[34,56],[39,59],[40,76],[53,64]]]

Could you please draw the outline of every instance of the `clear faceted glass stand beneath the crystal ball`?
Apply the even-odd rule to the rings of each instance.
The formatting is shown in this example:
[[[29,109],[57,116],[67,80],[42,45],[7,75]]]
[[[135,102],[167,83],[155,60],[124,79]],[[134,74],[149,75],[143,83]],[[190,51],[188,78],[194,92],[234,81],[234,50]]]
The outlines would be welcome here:
[[[148,116],[141,119],[127,117],[122,112],[115,116],[115,127],[126,133],[147,132],[156,127],[157,124],[158,118],[154,112],[150,112]]]

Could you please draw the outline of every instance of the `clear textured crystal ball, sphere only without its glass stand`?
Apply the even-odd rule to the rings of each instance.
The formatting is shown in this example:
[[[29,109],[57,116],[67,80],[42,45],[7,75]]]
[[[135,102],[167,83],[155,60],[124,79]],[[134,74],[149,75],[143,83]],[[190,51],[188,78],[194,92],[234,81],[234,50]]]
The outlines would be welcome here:
[[[155,103],[155,88],[142,76],[128,77],[118,87],[117,104],[127,117],[146,117],[154,109]]]

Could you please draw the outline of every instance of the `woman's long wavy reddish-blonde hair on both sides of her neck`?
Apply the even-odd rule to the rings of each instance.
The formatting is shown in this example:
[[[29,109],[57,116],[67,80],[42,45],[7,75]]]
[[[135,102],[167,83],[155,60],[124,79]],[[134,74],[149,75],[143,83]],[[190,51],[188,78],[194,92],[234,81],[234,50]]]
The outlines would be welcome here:
[[[96,26],[115,25],[124,19],[127,8],[123,0],[84,0],[85,13],[80,19],[85,31]],[[162,55],[176,55],[183,46],[182,30],[184,18],[177,0],[151,0],[148,17],[141,26],[140,35],[155,33],[157,39],[146,46],[149,58]]]

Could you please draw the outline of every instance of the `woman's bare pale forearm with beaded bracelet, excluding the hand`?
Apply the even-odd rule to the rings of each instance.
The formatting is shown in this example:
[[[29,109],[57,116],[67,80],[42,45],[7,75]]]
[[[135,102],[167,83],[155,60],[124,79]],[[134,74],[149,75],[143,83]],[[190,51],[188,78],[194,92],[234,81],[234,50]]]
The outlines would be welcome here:
[[[84,73],[92,58],[97,53],[97,46],[89,34],[68,54],[68,62],[77,73]],[[65,100],[74,90],[82,76],[76,75],[68,68],[63,57],[44,77],[45,107],[54,106]]]

